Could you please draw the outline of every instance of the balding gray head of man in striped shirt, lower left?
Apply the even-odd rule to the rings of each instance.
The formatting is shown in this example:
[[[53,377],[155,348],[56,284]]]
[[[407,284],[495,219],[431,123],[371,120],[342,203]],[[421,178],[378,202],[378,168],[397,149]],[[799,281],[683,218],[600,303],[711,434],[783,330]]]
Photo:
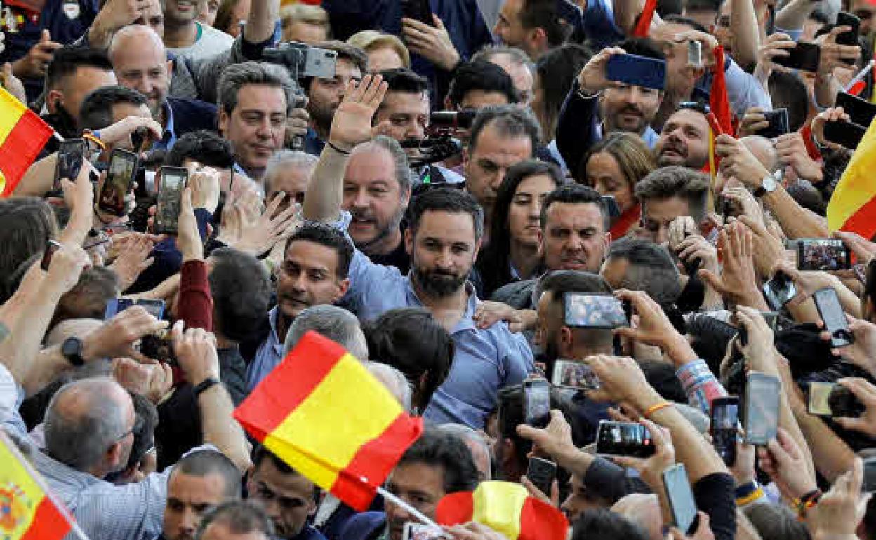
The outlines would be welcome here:
[[[61,410],[62,400],[78,394],[77,410]],[[109,377],[68,382],[52,397],[46,410],[44,431],[48,454],[77,471],[99,464],[109,446],[127,430],[124,407],[113,394],[124,389]],[[127,394],[124,394],[127,396]]]

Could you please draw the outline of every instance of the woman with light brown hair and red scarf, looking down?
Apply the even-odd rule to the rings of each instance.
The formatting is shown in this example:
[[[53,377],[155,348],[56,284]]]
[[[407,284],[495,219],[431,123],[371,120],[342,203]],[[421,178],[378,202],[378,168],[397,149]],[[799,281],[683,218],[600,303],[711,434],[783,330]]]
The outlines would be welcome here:
[[[611,132],[584,156],[579,168],[583,174],[578,178],[586,181],[579,184],[611,195],[618,203],[620,215],[611,225],[612,240],[625,236],[639,223],[642,210],[633,192],[636,183],[656,167],[641,137],[625,131]]]

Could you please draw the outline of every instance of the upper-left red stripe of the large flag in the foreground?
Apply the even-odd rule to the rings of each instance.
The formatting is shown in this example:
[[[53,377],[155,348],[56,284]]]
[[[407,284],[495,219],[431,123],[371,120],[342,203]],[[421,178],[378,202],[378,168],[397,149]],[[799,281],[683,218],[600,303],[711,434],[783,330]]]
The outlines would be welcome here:
[[[302,340],[258,383],[234,411],[234,417],[246,424],[259,442],[264,440],[313,393],[344,354],[346,349],[334,341]]]

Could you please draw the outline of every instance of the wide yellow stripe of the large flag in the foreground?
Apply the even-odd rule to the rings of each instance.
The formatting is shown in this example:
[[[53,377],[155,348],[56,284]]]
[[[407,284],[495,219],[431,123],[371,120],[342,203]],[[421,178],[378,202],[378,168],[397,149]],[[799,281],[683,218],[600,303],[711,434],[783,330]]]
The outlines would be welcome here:
[[[337,471],[348,466],[363,445],[378,438],[403,412],[389,392],[350,391],[370,376],[361,362],[344,354],[313,393],[265,437],[265,446],[315,484],[330,489]],[[337,416],[338,410],[364,410],[368,414],[355,423],[345,422]],[[295,448],[286,441],[294,441]]]

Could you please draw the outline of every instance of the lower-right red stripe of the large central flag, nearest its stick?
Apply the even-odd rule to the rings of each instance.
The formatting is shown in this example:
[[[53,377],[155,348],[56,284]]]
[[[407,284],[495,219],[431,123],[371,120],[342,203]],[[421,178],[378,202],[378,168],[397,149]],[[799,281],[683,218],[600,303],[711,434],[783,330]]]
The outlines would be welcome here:
[[[399,414],[378,438],[359,448],[350,464],[338,474],[331,493],[359,512],[367,510],[378,484],[389,475],[407,447],[420,438],[422,432],[421,417]]]

